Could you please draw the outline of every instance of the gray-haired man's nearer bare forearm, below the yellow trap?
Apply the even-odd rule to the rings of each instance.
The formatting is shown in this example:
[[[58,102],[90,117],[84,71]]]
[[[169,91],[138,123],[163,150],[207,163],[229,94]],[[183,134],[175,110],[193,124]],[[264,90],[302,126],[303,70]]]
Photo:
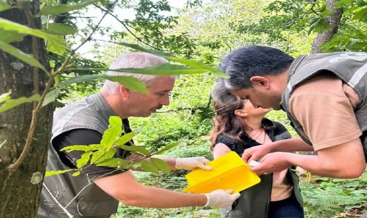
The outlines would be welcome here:
[[[177,208],[204,206],[207,198],[202,194],[188,194],[161,189],[151,186],[141,186],[130,199],[118,199],[122,203],[135,207]]]

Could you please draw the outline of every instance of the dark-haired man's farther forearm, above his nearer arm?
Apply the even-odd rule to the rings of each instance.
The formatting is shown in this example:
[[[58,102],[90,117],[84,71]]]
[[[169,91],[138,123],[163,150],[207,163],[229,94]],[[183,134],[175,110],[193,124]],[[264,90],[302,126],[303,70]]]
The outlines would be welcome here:
[[[313,151],[313,147],[300,137],[276,141],[270,146],[271,152]]]

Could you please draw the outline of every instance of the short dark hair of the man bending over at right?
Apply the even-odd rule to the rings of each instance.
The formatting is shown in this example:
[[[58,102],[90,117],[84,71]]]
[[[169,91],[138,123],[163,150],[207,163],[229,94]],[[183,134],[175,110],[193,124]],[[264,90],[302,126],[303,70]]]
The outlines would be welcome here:
[[[226,87],[239,90],[251,88],[250,78],[253,76],[283,73],[293,61],[293,57],[276,48],[245,46],[230,52],[218,68],[230,76],[225,79]]]

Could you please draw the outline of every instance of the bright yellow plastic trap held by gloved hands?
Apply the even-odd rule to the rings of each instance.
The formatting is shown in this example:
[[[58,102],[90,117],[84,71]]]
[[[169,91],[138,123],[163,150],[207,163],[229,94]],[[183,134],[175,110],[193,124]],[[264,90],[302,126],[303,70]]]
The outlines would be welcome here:
[[[250,166],[233,151],[206,165],[211,166],[212,170],[197,169],[185,176],[188,188],[183,192],[209,193],[217,189],[233,189],[236,193],[260,182],[260,178],[249,169]]]

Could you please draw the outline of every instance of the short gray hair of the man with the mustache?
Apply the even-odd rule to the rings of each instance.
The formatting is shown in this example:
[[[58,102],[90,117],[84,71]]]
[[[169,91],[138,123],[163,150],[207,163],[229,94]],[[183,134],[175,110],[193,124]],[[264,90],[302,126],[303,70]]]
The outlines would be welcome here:
[[[148,66],[155,66],[163,63],[167,63],[168,61],[164,58],[158,57],[156,55],[152,55],[145,52],[131,52],[128,54],[121,55],[110,67],[110,69],[119,69],[119,68],[145,68]],[[127,73],[127,72],[115,72],[108,71],[107,75],[113,76],[132,76],[137,78],[138,80],[145,83],[147,86],[152,84],[152,81],[160,75],[146,75],[146,74],[138,74],[138,73]],[[174,77],[174,76],[172,76]],[[106,80],[105,84],[103,84],[101,92],[103,94],[113,95],[119,91],[121,84],[117,82],[113,82],[110,80]]]

